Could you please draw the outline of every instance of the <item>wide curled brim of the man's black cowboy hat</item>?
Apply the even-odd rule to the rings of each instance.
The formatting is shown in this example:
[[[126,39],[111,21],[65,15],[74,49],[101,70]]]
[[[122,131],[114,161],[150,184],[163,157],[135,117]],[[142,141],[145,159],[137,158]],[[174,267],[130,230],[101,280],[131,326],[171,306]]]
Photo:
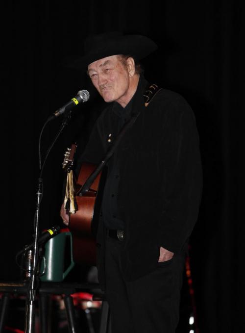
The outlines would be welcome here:
[[[114,41],[104,43],[96,51],[74,59],[70,65],[73,68],[87,70],[88,65],[92,62],[116,54],[129,54],[139,61],[156,50],[157,45],[146,36],[120,36]]]

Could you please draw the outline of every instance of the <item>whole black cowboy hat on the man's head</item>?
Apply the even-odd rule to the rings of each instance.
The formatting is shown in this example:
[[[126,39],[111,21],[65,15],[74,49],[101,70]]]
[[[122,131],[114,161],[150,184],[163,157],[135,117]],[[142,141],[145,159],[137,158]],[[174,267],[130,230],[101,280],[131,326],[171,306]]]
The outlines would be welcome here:
[[[107,32],[87,37],[84,55],[73,61],[73,67],[87,69],[92,62],[115,54],[131,55],[136,61],[157,50],[157,45],[142,35],[123,35],[122,32]]]

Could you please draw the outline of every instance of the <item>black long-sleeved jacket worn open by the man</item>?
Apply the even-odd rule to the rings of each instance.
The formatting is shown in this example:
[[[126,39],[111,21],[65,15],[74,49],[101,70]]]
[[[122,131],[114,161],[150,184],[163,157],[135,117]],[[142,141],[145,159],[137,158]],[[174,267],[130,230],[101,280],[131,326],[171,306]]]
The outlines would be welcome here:
[[[162,89],[145,107],[141,77],[133,112],[117,154],[121,180],[118,210],[125,223],[121,264],[126,280],[157,266],[160,246],[178,254],[196,223],[202,188],[199,139],[194,113],[183,97]],[[99,163],[117,135],[113,104],[99,116],[81,161]],[[97,235],[99,280],[103,282],[104,227]]]

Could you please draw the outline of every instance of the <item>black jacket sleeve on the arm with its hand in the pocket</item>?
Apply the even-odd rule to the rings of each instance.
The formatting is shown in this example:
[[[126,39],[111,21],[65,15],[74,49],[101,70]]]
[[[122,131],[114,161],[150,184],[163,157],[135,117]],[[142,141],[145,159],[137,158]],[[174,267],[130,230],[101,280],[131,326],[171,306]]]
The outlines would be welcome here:
[[[159,221],[159,243],[176,253],[186,243],[197,220],[202,168],[195,116],[183,98],[171,105],[165,125],[167,136],[160,146],[164,156],[164,202]]]

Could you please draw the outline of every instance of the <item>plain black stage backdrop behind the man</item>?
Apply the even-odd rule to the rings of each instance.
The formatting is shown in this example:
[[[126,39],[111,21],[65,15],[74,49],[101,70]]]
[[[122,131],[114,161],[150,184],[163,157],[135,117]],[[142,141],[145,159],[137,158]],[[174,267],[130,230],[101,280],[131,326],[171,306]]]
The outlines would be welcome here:
[[[2,110],[0,279],[19,278],[15,254],[33,233],[38,139],[45,121],[79,89],[90,92],[47,159],[41,229],[60,224],[63,154],[75,139],[82,150],[103,106],[86,75],[66,61],[82,53],[88,33],[145,34],[159,45],[143,63],[148,81],[187,99],[200,135],[204,188],[190,252],[199,329],[243,332],[244,3],[42,0],[8,6],[2,29],[7,43],[1,51],[9,107]],[[60,124],[57,119],[44,129],[42,156]]]

